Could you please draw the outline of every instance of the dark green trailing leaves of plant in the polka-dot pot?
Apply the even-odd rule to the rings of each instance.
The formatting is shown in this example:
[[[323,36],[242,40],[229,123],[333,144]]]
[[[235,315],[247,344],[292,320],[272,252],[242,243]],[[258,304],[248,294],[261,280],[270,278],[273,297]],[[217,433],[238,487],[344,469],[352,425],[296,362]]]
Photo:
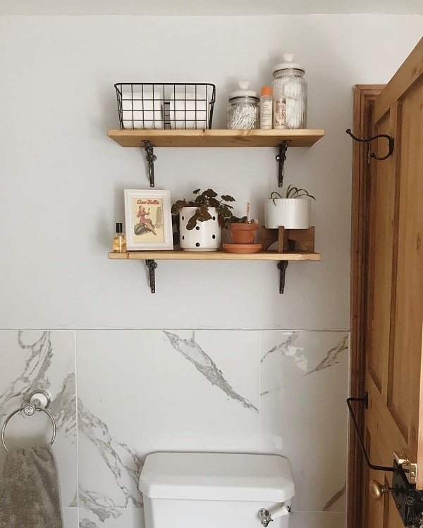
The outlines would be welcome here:
[[[188,230],[193,230],[197,222],[205,222],[212,218],[212,215],[209,213],[209,207],[216,208],[220,227],[228,227],[231,222],[238,222],[239,218],[235,217],[232,212],[233,206],[230,206],[228,203],[235,201],[233,196],[222,194],[219,199],[217,193],[213,189],[206,189],[202,192],[200,191],[201,189],[195,189],[195,191],[192,191],[192,193],[195,194],[195,199],[183,199],[173,203],[171,207],[173,225],[176,225],[179,229],[179,213],[184,207],[197,208],[190,220],[188,220]]]

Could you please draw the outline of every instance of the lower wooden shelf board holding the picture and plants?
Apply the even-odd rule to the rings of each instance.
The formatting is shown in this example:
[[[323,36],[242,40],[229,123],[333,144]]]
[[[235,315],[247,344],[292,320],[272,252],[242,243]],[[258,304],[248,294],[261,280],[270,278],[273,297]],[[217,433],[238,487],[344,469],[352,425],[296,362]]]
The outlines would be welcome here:
[[[226,251],[127,251],[109,253],[112,260],[321,260],[320,253],[293,251],[260,251],[259,253],[227,253]]]

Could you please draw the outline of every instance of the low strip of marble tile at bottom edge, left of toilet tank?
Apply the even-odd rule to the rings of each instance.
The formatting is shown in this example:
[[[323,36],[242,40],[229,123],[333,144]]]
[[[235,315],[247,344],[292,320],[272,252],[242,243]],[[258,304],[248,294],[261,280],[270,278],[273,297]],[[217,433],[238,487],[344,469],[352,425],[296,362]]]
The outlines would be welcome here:
[[[80,508],[79,528],[144,528],[142,508]]]

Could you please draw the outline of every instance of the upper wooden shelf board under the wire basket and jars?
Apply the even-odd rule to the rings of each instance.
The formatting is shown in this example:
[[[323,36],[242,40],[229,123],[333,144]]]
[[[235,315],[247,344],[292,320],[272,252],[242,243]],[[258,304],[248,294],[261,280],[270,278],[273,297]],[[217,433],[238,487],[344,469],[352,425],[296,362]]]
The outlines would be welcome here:
[[[312,146],[324,137],[322,129],[296,130],[108,130],[107,135],[121,146]]]

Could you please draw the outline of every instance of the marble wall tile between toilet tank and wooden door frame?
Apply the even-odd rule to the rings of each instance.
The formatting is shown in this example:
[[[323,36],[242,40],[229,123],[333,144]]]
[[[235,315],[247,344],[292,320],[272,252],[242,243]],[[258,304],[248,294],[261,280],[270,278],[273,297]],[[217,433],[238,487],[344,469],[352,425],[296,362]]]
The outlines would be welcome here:
[[[260,335],[260,451],[289,458],[295,510],[343,512],[348,334]]]

